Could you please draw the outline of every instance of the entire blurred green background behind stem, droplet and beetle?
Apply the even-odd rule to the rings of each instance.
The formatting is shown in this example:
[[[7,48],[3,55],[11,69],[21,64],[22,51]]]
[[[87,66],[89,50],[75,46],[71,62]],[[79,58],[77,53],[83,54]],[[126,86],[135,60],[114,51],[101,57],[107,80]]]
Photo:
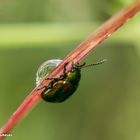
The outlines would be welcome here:
[[[131,0],[5,0],[0,3],[0,126],[35,87],[45,60],[63,59]],[[7,140],[139,140],[140,15],[88,55],[62,104],[42,101]]]

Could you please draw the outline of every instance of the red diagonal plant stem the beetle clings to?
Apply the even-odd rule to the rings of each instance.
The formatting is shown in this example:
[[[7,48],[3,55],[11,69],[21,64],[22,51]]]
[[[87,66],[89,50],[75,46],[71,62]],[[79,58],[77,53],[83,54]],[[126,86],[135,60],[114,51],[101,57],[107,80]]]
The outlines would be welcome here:
[[[137,0],[132,5],[120,11],[116,16],[109,19],[101,26],[96,33],[91,35],[87,40],[81,43],[75,50],[68,54],[61,64],[56,67],[47,77],[57,77],[62,74],[63,66],[66,62],[79,62],[101,42],[108,38],[119,27],[126,23],[131,17],[133,17],[140,10],[140,1]],[[70,64],[68,65],[68,69]],[[9,118],[3,128],[0,129],[0,140],[4,139],[2,134],[10,133],[11,129],[22,120],[25,115],[41,100],[41,87],[48,86],[50,81],[43,80],[23,101],[18,109]]]

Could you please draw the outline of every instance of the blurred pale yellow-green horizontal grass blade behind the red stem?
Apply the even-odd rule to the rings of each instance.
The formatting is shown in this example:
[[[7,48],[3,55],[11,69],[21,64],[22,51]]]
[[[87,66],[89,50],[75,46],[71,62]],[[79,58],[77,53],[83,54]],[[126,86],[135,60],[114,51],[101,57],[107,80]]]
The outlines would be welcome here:
[[[111,43],[114,41],[135,43],[136,40],[139,40],[139,19],[140,16],[138,15],[124,27],[124,30],[117,32],[109,41]],[[36,48],[38,46],[58,47],[57,44],[65,47],[69,43],[80,42],[98,26],[99,23],[97,22],[0,24],[0,49]],[[58,32],[61,32],[61,36]]]

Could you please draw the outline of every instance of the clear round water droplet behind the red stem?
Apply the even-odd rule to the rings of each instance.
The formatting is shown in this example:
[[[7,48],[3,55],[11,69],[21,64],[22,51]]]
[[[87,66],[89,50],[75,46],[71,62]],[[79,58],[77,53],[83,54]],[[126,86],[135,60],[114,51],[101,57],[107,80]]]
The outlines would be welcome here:
[[[47,76],[56,66],[60,64],[62,60],[51,59],[42,63],[36,73],[36,85],[38,85],[45,76]]]

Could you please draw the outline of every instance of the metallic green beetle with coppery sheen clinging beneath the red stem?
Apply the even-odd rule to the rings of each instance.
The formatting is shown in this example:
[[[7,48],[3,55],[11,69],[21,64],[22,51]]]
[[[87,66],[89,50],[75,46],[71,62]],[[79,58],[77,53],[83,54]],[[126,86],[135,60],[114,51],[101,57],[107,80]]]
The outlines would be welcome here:
[[[99,65],[104,63],[106,60],[102,60],[95,64],[86,65],[83,64],[73,64],[71,69],[66,72],[66,67],[68,63],[65,63],[63,74],[59,78],[47,78],[46,80],[52,80],[49,87],[44,87],[45,90],[41,94],[43,100],[53,103],[61,103],[68,99],[77,89],[79,81],[81,79],[81,68]]]

